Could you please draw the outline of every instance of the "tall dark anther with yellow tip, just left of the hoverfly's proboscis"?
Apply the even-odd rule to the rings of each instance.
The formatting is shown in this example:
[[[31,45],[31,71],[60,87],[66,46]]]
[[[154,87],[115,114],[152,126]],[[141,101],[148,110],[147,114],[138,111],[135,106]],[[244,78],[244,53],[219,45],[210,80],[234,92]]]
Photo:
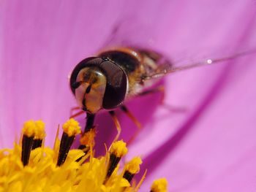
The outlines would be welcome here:
[[[67,154],[69,153],[69,149],[75,140],[75,136],[81,132],[78,121],[74,119],[67,120],[62,128],[63,134],[61,136],[61,144],[59,146],[57,166],[64,164],[67,158]]]

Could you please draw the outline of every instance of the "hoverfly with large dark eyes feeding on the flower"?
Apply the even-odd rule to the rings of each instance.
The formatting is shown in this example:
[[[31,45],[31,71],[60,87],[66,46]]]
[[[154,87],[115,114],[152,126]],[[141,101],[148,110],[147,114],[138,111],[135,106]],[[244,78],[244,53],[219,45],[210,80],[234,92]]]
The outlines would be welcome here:
[[[127,110],[124,102],[161,88],[150,88],[165,74],[216,64],[255,53],[249,50],[222,58],[206,58],[192,64],[176,65],[161,53],[136,47],[110,48],[95,57],[86,58],[75,66],[70,77],[70,88],[78,105],[86,112],[85,132],[94,128],[94,117],[100,110],[108,110],[116,124],[118,138],[121,128],[114,110],[120,107],[138,125],[138,120]]]

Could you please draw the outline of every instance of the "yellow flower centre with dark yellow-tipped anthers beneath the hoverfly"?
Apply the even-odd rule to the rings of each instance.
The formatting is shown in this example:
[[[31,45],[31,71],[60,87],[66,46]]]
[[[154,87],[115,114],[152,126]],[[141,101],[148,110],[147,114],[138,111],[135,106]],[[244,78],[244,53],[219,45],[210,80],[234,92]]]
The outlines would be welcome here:
[[[56,134],[53,149],[39,145],[31,150],[33,149],[31,146],[37,140],[42,141],[45,137],[44,123],[40,120],[24,123],[20,145],[15,142],[13,149],[0,150],[0,191],[138,191],[146,172],[137,186],[135,181],[129,183],[124,174],[129,172],[132,179],[140,170],[141,159],[133,158],[122,172],[118,165],[122,156],[127,153],[126,143],[123,141],[113,143],[110,151],[106,150],[107,154],[99,158],[94,157],[94,150],[90,150],[90,154],[87,155],[83,150],[69,150],[75,134],[79,131],[74,131],[77,130],[74,124],[78,125],[75,120],[66,124],[73,130],[70,137],[67,133],[69,131],[66,130],[67,132],[64,131],[62,134],[61,141],[59,134]],[[94,135],[94,130],[91,130],[87,141],[90,142],[91,139],[92,142]],[[59,161],[58,166],[56,161]]]

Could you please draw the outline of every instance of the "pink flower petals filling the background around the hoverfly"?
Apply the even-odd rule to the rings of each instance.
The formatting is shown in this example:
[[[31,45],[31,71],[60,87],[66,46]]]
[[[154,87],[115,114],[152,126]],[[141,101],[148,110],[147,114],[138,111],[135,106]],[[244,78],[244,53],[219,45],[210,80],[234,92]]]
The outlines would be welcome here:
[[[1,147],[31,118],[45,120],[53,144],[75,107],[69,72],[116,26],[113,42],[152,47],[175,61],[256,45],[253,1],[2,1],[0,12]],[[143,155],[141,191],[157,177],[167,177],[172,191],[255,190],[255,61],[248,55],[166,77],[165,103],[187,112],[165,110],[159,94],[129,101],[144,126],[127,157]],[[118,116],[129,139],[135,125]],[[97,122],[104,150],[116,132],[108,115]]]

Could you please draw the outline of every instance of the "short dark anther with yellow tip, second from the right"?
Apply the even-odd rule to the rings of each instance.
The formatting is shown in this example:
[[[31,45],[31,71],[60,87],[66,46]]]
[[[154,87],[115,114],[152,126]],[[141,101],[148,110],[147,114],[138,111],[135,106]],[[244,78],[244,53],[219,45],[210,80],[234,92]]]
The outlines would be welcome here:
[[[124,179],[131,182],[135,174],[140,172],[140,164],[142,164],[140,157],[135,157],[131,161],[129,161],[124,168]]]

